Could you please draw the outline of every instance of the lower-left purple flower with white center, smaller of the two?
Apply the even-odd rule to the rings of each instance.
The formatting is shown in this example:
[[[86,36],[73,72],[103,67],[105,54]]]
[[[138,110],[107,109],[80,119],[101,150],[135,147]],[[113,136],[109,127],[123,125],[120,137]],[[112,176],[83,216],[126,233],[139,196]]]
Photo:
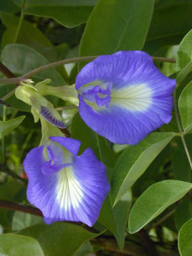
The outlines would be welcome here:
[[[24,160],[28,200],[44,221],[82,221],[92,226],[109,192],[106,167],[87,148],[77,156],[80,141],[51,137],[48,147],[33,148]]]

